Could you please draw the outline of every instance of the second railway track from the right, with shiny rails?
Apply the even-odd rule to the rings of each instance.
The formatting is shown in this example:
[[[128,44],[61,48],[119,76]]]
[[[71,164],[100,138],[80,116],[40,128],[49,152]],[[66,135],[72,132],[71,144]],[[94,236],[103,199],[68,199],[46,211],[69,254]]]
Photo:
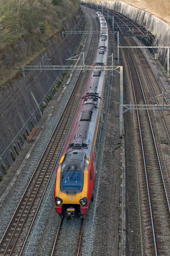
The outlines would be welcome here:
[[[122,46],[127,46],[131,42],[131,38],[121,38]],[[148,70],[150,67],[145,63],[146,60],[143,58],[143,55],[138,53],[140,55],[139,61],[136,50],[124,48],[124,52],[130,70],[135,104],[145,105],[150,99],[148,87],[150,85],[153,86],[153,84],[155,86],[155,78],[151,74],[152,72]],[[137,153],[139,165],[144,170],[140,174],[141,180],[143,180],[143,184],[146,186],[143,197],[145,197],[145,201],[147,197],[149,199],[149,212],[151,216],[150,225],[152,229],[148,229],[145,232],[152,240],[152,243],[150,242],[151,250],[155,251],[155,255],[160,255],[160,253],[166,254],[170,246],[169,241],[167,241],[167,237],[170,235],[168,200],[170,194],[168,196],[163,175],[165,161],[160,154],[161,151],[158,150],[160,146],[160,140],[158,139],[159,133],[156,131],[156,126],[153,126],[152,117],[153,113],[151,111],[137,110],[138,125],[136,124],[136,126],[138,128],[136,129],[138,131],[136,132],[136,140],[138,141]]]

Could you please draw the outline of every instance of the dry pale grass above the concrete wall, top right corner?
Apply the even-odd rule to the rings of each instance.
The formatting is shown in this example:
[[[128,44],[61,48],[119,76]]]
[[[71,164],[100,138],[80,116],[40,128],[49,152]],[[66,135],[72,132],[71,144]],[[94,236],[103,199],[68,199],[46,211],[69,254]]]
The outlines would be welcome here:
[[[100,0],[92,0],[93,2],[100,2]],[[104,1],[104,0],[103,0]],[[113,1],[113,0],[106,0]],[[121,0],[118,0],[121,1]],[[129,5],[142,9],[153,14],[159,19],[170,23],[170,0],[124,0]]]

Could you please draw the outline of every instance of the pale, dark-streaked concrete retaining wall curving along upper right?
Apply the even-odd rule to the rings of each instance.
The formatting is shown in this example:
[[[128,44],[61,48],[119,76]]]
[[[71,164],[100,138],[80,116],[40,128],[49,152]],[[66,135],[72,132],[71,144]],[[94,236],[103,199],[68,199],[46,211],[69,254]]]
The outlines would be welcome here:
[[[135,8],[121,1],[104,1],[100,2],[100,5],[103,5],[108,9],[120,12],[123,15],[127,16],[127,18],[130,18],[137,23],[143,24],[149,30],[154,32],[154,34],[156,34],[154,46],[170,46],[170,27],[164,21],[158,19],[157,17],[151,15],[148,12]],[[167,49],[162,49],[162,55],[161,49],[154,51],[157,54],[160,54],[157,57],[161,64],[165,68],[167,68]]]

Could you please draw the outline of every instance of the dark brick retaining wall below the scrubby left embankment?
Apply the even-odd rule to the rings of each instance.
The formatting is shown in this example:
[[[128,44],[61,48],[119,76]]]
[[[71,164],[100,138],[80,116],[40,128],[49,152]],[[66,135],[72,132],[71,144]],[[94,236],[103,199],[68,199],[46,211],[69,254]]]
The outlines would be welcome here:
[[[77,13],[80,15],[80,13]],[[83,20],[74,17],[63,25],[63,30],[73,30],[78,24],[83,30]],[[42,55],[47,53],[45,65],[65,65],[66,60],[76,50],[81,34],[70,36],[66,34],[63,38],[62,32],[54,34],[46,42],[46,50],[38,55],[30,65],[42,65]],[[10,51],[10,49],[9,49]],[[10,54],[9,54],[10,55]],[[48,103],[47,97],[53,97],[52,88],[57,77],[62,75],[62,71],[25,71],[25,77],[19,74],[16,78],[9,80],[5,86],[0,88],[0,174],[3,176],[2,165],[8,170],[13,159],[10,155],[12,151],[16,158],[20,147],[24,142],[24,135],[31,133],[33,126],[41,118],[43,112],[43,101]],[[40,109],[41,108],[41,109]],[[14,145],[16,145],[17,152]],[[19,147],[20,146],[20,147]]]

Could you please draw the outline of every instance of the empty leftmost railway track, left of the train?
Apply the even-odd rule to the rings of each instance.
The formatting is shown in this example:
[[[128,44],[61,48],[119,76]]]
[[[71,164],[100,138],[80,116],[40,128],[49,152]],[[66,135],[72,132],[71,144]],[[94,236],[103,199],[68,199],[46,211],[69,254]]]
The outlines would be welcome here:
[[[96,24],[93,22],[93,26]],[[96,34],[97,37],[97,34]],[[96,37],[91,36],[94,52]],[[93,44],[93,46],[92,46]],[[89,51],[92,62],[93,54]],[[0,255],[21,255],[76,111],[89,72],[80,72],[69,100],[0,242]]]

